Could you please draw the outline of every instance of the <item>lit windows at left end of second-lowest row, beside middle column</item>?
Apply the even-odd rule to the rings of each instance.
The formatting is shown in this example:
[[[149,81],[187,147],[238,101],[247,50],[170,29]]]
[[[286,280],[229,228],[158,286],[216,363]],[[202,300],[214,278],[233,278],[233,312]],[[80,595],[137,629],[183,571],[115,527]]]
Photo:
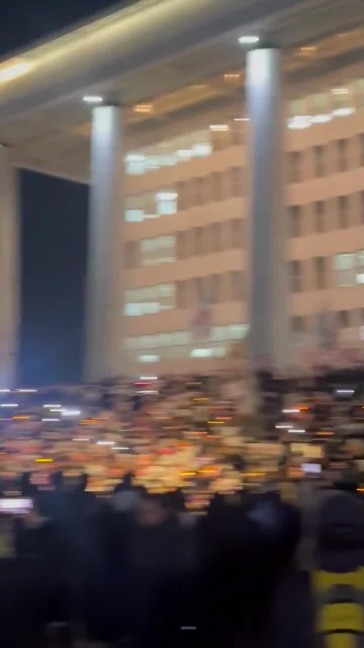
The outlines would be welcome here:
[[[127,290],[124,295],[124,314],[151,315],[175,307],[174,284],[158,284]]]

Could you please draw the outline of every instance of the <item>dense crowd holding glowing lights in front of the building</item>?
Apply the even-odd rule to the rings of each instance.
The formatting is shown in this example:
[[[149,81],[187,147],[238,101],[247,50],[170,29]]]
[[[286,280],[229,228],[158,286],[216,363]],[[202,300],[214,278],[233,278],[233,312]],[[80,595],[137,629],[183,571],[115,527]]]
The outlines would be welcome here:
[[[254,384],[0,393],[11,645],[356,645],[360,374]]]

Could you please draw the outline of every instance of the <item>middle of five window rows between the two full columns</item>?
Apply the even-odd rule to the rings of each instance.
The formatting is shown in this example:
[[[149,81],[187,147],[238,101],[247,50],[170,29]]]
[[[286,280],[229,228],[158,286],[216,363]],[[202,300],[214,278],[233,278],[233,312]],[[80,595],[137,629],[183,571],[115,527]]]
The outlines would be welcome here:
[[[128,270],[132,270],[140,266],[173,263],[177,259],[188,259],[194,255],[243,247],[245,220],[231,218],[223,222],[192,227],[168,236],[128,241],[124,249],[125,265]]]

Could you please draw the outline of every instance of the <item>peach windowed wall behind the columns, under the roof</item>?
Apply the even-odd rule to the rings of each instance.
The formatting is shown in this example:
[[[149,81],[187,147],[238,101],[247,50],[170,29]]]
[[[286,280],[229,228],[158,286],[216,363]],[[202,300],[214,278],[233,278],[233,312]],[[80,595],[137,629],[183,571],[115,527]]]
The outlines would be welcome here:
[[[323,75],[284,102],[292,364],[332,312],[339,345],[364,329],[364,78]],[[241,75],[227,76],[239,84]],[[146,108],[147,110],[147,108]],[[198,124],[198,128],[196,125]],[[223,367],[249,331],[249,119],[238,105],[126,155],[128,361],[139,373]],[[207,334],[194,330],[203,303]],[[143,369],[144,367],[144,369]],[[147,371],[148,373],[148,371]]]

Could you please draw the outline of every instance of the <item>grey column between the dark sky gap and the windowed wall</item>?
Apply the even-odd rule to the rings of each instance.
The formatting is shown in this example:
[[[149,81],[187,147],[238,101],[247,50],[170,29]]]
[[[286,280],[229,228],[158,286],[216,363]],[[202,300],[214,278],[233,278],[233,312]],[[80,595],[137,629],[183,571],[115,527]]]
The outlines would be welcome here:
[[[93,381],[126,373],[122,131],[119,107],[93,109],[86,309],[86,378]]]

